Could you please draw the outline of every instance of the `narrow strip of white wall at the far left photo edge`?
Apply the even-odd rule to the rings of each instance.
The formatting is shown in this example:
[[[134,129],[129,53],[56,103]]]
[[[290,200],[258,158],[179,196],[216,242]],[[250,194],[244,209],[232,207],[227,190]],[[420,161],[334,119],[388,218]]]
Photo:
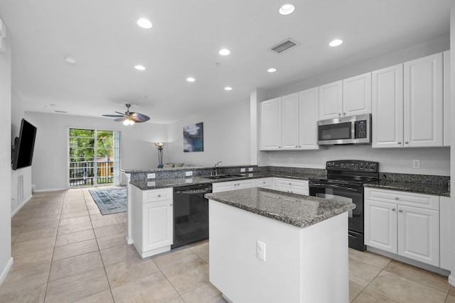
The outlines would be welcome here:
[[[0,17],[1,18],[1,17]],[[13,264],[11,258],[11,35],[0,52],[0,285]]]

